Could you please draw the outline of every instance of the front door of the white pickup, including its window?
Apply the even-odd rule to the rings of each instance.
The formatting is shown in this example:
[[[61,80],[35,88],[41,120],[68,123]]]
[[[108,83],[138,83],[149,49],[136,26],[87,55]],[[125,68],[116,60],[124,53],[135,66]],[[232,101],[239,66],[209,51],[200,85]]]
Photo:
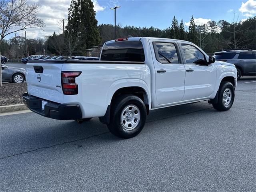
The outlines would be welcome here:
[[[206,56],[194,45],[181,44],[186,60],[185,94],[183,101],[206,98],[215,87],[216,67],[208,65]]]

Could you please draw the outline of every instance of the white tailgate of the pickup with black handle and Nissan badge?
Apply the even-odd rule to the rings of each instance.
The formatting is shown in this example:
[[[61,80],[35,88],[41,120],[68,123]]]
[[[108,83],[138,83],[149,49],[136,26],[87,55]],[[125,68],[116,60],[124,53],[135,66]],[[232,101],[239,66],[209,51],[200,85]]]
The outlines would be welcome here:
[[[61,88],[61,69],[63,63],[28,62],[26,82],[28,94],[57,103],[64,102]]]

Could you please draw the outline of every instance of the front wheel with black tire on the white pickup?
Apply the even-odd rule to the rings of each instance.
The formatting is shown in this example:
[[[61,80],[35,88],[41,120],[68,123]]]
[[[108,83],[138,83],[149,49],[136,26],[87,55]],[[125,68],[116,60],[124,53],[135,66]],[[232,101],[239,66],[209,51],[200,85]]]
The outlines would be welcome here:
[[[226,95],[224,96],[224,94]],[[228,100],[229,94],[231,95],[230,100]],[[224,101],[225,98],[226,101]],[[212,106],[218,111],[227,111],[232,107],[234,98],[235,91],[233,84],[227,81],[223,81],[220,83],[220,88],[218,91],[218,102],[216,104],[212,104]]]

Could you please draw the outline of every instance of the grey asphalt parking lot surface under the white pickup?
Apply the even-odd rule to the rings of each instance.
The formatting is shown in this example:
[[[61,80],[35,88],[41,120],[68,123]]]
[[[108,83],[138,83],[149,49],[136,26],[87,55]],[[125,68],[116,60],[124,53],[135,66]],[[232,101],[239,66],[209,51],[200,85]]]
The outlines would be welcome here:
[[[254,192],[255,81],[238,81],[226,112],[207,102],[151,111],[128,140],[98,118],[0,116],[0,191]]]

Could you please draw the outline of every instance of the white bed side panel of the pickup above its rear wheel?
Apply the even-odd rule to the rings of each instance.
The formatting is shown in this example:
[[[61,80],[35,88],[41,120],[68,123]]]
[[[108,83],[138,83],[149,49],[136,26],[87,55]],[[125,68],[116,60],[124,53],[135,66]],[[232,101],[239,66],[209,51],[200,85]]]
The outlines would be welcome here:
[[[81,71],[78,95],[64,95],[65,103],[81,106],[83,118],[104,116],[112,96],[123,87],[144,88],[150,103],[150,70],[146,64],[64,64],[62,71]]]

